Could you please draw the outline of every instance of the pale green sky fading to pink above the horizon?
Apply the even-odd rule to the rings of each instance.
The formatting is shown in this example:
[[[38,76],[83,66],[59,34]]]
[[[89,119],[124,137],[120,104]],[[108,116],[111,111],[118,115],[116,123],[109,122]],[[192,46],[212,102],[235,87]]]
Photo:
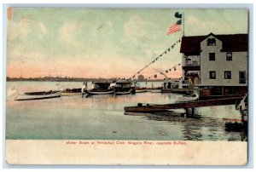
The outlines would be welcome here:
[[[175,12],[184,14],[185,36],[247,33],[246,9],[15,8],[8,13],[7,76],[131,77],[183,37],[166,35]],[[177,43],[140,74],[181,63],[179,50]],[[181,66],[167,75],[181,77]]]

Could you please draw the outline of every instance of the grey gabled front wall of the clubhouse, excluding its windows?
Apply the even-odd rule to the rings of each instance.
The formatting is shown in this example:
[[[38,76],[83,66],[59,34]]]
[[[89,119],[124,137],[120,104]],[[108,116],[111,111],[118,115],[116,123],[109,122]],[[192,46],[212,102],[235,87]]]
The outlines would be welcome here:
[[[226,52],[220,51],[222,42],[215,37],[216,46],[207,46],[207,38],[201,42],[201,84],[247,86],[247,52],[231,52],[232,60],[226,60]],[[215,53],[215,60],[209,60],[209,53]],[[216,72],[216,79],[209,78],[210,71]],[[231,72],[231,79],[224,79],[224,71]],[[239,83],[239,71],[246,72],[246,83]]]

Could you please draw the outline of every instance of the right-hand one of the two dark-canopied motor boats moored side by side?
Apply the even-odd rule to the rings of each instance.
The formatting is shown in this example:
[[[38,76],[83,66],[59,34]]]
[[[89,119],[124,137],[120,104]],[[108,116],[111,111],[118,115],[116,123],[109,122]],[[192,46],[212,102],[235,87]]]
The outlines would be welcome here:
[[[120,81],[114,83],[114,95],[130,95],[131,94],[131,82]]]

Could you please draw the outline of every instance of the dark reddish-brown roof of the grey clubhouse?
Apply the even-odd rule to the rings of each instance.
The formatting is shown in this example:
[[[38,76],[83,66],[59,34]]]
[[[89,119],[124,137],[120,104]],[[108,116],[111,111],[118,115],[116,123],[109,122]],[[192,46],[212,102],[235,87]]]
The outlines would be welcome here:
[[[221,49],[221,51],[248,51],[248,34],[214,35],[210,33],[206,36],[183,37],[180,52],[185,54],[200,54],[201,42],[210,35],[222,41],[223,49]]]

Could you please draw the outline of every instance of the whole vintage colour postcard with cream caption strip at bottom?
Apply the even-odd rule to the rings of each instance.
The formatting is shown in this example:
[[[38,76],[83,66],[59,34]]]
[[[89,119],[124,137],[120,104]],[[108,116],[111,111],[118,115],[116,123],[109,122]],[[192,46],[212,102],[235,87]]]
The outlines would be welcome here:
[[[7,17],[7,163],[247,163],[247,9]]]

